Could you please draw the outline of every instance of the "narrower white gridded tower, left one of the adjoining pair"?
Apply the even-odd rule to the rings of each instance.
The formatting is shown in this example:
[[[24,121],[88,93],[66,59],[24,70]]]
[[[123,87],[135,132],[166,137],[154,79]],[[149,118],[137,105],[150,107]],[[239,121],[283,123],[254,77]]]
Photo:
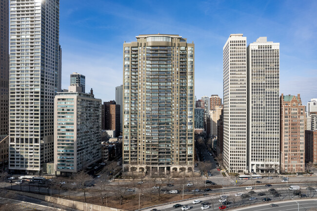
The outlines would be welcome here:
[[[243,34],[223,46],[223,161],[229,172],[247,171],[247,63]]]

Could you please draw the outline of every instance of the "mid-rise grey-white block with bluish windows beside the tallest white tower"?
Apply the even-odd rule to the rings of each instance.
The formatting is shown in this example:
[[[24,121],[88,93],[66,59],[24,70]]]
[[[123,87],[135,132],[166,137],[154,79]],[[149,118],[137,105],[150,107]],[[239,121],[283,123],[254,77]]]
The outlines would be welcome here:
[[[79,86],[55,96],[55,171],[69,175],[101,159],[101,99]]]

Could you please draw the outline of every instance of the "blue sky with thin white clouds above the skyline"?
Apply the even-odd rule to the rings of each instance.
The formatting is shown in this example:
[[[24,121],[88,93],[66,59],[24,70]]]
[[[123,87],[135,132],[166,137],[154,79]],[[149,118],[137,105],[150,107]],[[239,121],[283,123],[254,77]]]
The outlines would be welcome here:
[[[86,76],[86,92],[115,99],[122,45],[139,34],[178,34],[195,43],[195,95],[222,97],[222,47],[230,34],[247,43],[280,43],[280,93],[317,97],[317,0],[60,0],[62,88]]]

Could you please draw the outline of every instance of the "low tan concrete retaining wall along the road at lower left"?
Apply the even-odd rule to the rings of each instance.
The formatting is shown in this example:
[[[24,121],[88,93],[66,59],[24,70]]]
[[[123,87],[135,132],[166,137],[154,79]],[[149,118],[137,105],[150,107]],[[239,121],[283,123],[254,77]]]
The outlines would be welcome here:
[[[51,203],[59,204],[65,207],[70,207],[74,208],[80,211],[124,211],[121,209],[117,208],[110,208],[110,207],[104,207],[100,205],[94,205],[94,204],[89,204],[89,203],[84,203],[84,202],[79,202],[79,201],[72,201],[68,199],[61,199],[61,198],[56,198],[56,197],[51,197],[47,195],[40,195],[40,194],[35,194],[35,193],[29,193],[29,192],[19,192],[19,191],[10,191],[10,192],[16,192],[22,195],[30,196],[33,198],[37,198],[43,201],[48,201]]]

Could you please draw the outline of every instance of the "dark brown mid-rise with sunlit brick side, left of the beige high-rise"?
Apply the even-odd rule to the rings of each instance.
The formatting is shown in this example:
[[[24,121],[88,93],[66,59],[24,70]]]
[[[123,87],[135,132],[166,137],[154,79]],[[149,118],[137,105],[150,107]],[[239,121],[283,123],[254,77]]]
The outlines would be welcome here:
[[[120,135],[120,105],[116,101],[103,102],[104,128],[102,130],[116,131],[116,137]]]

